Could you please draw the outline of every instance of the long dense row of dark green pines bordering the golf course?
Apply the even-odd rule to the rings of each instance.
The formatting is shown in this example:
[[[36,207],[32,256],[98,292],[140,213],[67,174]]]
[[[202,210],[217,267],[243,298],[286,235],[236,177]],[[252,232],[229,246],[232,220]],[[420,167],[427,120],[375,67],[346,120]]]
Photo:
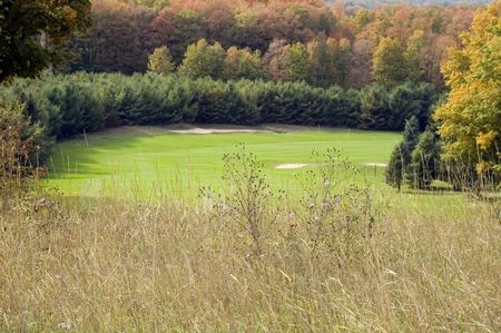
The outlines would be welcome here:
[[[178,75],[47,75],[0,91],[7,105],[42,128],[45,143],[122,125],[282,123],[400,130],[415,116],[424,128],[435,101],[429,84],[391,90],[320,88],[304,81],[193,79]],[[43,149],[48,150],[48,149]]]

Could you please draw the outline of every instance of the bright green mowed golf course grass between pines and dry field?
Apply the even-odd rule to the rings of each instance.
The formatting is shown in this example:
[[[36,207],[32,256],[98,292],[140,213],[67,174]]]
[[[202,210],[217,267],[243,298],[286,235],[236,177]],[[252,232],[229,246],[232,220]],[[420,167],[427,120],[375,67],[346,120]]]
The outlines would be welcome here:
[[[60,143],[45,184],[68,195],[193,195],[202,186],[218,187],[223,155],[245,144],[264,164],[273,185],[281,188],[289,188],[299,170],[276,166],[313,165],[312,151],[327,148],[340,149],[355,164],[361,169],[361,180],[383,185],[384,167],[367,164],[387,163],[400,138],[395,133],[348,129],[199,135],[164,128],[119,128]]]

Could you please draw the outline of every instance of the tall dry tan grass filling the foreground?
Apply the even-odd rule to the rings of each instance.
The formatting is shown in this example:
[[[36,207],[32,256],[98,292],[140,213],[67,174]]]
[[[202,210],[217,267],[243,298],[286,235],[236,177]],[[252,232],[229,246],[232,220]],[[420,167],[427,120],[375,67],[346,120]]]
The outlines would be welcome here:
[[[499,332],[492,206],[390,204],[346,257],[308,251],[307,228],[284,236],[287,209],[253,255],[248,235],[202,204],[12,200],[0,331]]]

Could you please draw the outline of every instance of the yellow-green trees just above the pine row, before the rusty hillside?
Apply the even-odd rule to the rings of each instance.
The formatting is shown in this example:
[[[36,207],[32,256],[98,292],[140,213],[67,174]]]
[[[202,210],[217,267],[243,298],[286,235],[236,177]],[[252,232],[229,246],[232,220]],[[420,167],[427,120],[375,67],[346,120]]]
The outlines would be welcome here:
[[[274,81],[306,81],[318,87],[342,86],[346,79],[348,47],[343,40],[321,36],[304,45],[274,41],[264,57],[248,48],[219,42],[209,45],[200,39],[189,45],[181,63],[176,68],[169,49],[164,46],[148,57],[148,70],[170,74],[177,70],[189,78],[265,79]],[[391,39],[384,39],[374,55],[374,82],[392,89],[405,81],[420,82],[419,74],[410,66],[410,58]]]

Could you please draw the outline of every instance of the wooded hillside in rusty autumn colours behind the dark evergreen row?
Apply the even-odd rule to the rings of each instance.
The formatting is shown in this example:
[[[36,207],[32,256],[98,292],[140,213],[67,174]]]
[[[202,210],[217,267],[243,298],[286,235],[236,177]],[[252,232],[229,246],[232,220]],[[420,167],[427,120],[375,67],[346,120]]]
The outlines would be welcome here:
[[[440,63],[477,10],[399,4],[350,12],[306,0],[136,2],[148,6],[94,1],[92,28],[69,46],[80,56],[69,69],[145,72],[148,55],[159,47],[168,48],[175,69],[187,47],[205,39],[220,47],[218,53],[254,59],[264,79],[345,88],[414,80],[442,90]]]

